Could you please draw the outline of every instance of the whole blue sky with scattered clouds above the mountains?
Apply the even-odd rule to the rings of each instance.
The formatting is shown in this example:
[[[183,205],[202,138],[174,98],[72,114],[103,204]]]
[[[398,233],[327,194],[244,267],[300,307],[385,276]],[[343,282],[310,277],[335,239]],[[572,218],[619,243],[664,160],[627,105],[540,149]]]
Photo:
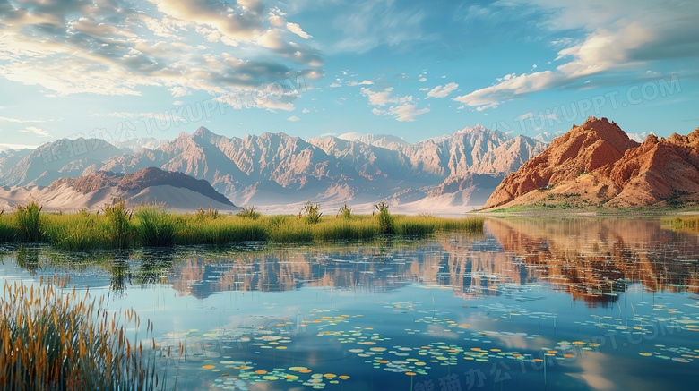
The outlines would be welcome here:
[[[0,147],[699,127],[699,2],[0,0]]]

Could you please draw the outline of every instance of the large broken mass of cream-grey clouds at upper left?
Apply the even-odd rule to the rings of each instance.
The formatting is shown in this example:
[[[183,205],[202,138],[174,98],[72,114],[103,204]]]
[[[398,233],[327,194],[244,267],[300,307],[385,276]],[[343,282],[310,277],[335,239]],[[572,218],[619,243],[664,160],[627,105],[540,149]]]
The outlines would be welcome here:
[[[0,75],[57,95],[141,95],[143,87],[161,87],[177,98],[324,74],[320,51],[275,27],[283,13],[274,9],[278,18],[268,18],[261,1],[151,3],[0,0]],[[289,105],[293,98],[262,107]]]

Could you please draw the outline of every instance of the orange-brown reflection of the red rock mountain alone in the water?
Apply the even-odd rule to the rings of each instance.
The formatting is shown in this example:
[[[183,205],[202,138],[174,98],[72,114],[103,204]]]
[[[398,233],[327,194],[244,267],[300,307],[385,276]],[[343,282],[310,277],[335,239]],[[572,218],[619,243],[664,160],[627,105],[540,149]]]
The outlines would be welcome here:
[[[488,219],[510,262],[590,306],[614,302],[631,282],[649,292],[699,292],[699,237],[658,220]]]

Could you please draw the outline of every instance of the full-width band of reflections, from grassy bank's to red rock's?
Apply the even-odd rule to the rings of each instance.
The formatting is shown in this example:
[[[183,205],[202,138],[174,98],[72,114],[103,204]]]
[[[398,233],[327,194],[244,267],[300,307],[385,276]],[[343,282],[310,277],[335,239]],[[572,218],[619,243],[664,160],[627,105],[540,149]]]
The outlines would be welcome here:
[[[117,293],[169,285],[200,299],[304,286],[373,293],[414,283],[452,289],[464,299],[513,295],[520,301],[540,299],[528,297],[526,285],[550,284],[591,307],[616,302],[632,283],[647,292],[699,293],[699,235],[650,219],[488,217],[485,234],[335,246],[257,243],[93,255],[18,246],[0,253],[0,261],[8,259],[5,267],[30,276],[62,275]]]

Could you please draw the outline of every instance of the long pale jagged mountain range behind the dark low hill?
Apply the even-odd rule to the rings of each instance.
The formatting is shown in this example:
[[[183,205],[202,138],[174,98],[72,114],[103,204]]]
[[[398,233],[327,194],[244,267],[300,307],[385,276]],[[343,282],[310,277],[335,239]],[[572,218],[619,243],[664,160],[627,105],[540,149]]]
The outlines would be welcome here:
[[[387,200],[393,205],[451,208],[482,205],[506,174],[545,148],[540,141],[482,126],[414,144],[390,135],[302,140],[265,132],[228,138],[200,127],[169,141],[113,145],[99,139],[64,139],[33,150],[0,152],[0,183],[56,189],[73,186],[64,178],[134,174],[157,167],[206,180],[236,205],[314,200],[334,207],[345,201],[369,205]]]

